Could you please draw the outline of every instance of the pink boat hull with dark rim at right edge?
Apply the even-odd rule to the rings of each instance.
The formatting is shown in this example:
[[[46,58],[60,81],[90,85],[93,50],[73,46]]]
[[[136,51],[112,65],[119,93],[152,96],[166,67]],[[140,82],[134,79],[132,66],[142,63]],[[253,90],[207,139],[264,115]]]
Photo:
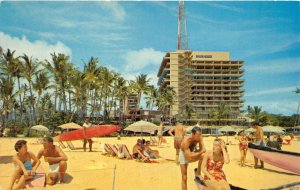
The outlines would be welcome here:
[[[258,159],[273,166],[300,174],[300,153],[275,150],[248,144],[249,150]]]

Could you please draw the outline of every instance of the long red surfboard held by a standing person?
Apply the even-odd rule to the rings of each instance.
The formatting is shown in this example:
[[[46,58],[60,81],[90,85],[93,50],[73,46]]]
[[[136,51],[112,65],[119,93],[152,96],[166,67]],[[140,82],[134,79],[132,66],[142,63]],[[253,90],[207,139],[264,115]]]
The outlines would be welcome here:
[[[81,139],[90,139],[92,137],[101,137],[101,136],[109,135],[120,129],[121,127],[118,125],[98,125],[98,126],[78,129],[71,132],[66,132],[54,138],[57,139],[58,141],[75,141]]]

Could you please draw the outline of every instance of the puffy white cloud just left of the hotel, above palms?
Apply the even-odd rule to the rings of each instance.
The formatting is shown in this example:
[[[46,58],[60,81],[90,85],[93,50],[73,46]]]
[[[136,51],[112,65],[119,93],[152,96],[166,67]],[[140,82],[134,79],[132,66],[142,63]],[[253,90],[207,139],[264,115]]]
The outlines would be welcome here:
[[[125,60],[125,71],[142,71],[147,66],[158,67],[161,64],[164,53],[153,48],[130,50],[122,57]]]

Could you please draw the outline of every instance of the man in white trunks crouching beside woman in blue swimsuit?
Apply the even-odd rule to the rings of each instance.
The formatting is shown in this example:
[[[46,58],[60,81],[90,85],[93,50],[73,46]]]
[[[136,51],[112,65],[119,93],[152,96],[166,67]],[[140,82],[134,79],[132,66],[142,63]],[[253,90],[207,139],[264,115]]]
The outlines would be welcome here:
[[[37,157],[40,159],[44,156],[45,162],[49,163],[49,174],[46,177],[46,183],[54,185],[58,180],[58,173],[60,174],[60,183],[64,183],[68,161],[67,156],[58,146],[53,144],[51,137],[43,139],[43,146],[44,148],[39,151]]]

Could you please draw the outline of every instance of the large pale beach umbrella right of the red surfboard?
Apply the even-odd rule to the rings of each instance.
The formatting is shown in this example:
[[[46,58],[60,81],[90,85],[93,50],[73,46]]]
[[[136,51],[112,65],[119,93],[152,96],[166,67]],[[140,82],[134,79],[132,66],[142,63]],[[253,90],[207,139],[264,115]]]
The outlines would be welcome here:
[[[157,129],[158,129],[157,125],[150,123],[148,121],[141,120],[129,125],[124,130],[151,134],[154,133],[154,131]]]

